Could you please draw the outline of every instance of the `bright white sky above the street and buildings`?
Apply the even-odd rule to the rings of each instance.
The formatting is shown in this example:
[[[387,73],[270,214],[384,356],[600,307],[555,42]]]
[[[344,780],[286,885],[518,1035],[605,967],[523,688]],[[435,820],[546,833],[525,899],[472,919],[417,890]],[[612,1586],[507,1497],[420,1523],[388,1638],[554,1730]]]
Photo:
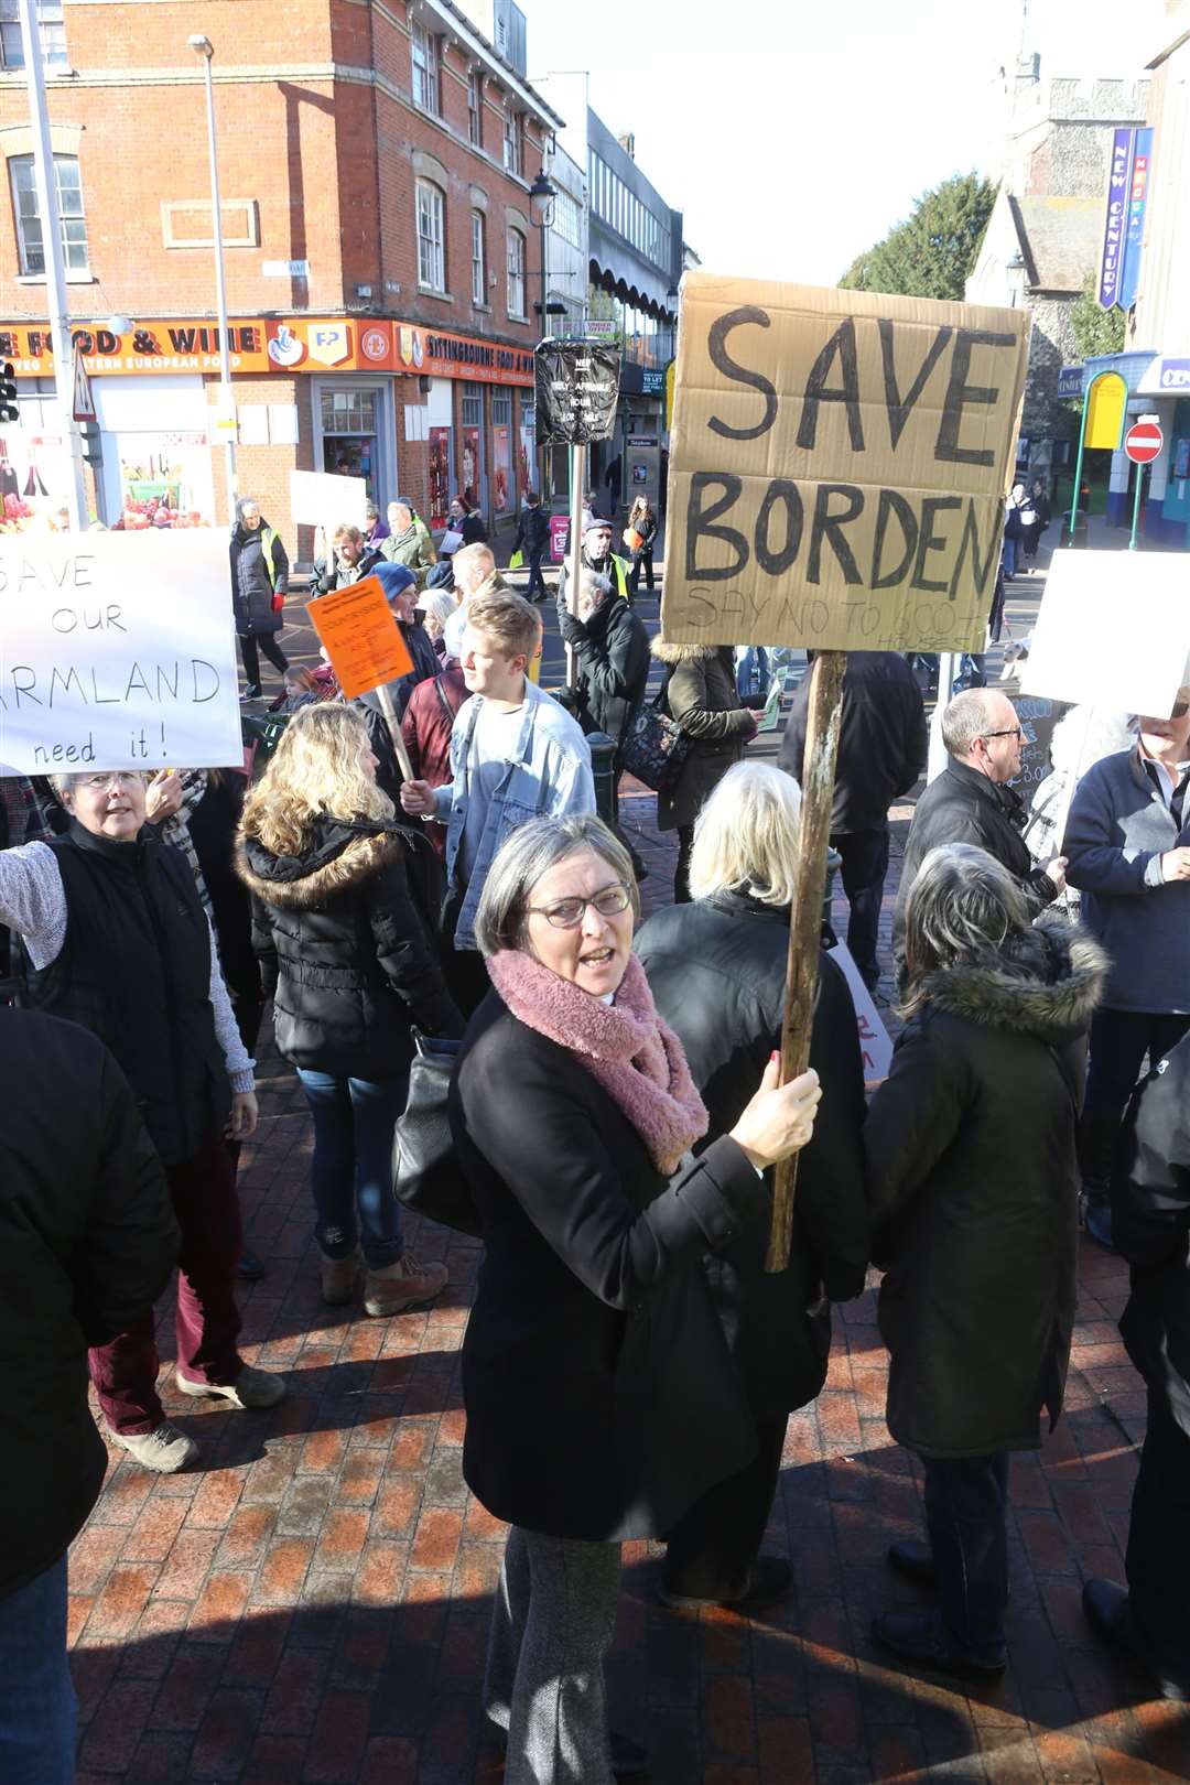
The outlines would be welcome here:
[[[999,70],[1140,75],[1161,0],[519,0],[528,73],[591,104],[703,266],[833,286],[913,198],[996,170]]]

